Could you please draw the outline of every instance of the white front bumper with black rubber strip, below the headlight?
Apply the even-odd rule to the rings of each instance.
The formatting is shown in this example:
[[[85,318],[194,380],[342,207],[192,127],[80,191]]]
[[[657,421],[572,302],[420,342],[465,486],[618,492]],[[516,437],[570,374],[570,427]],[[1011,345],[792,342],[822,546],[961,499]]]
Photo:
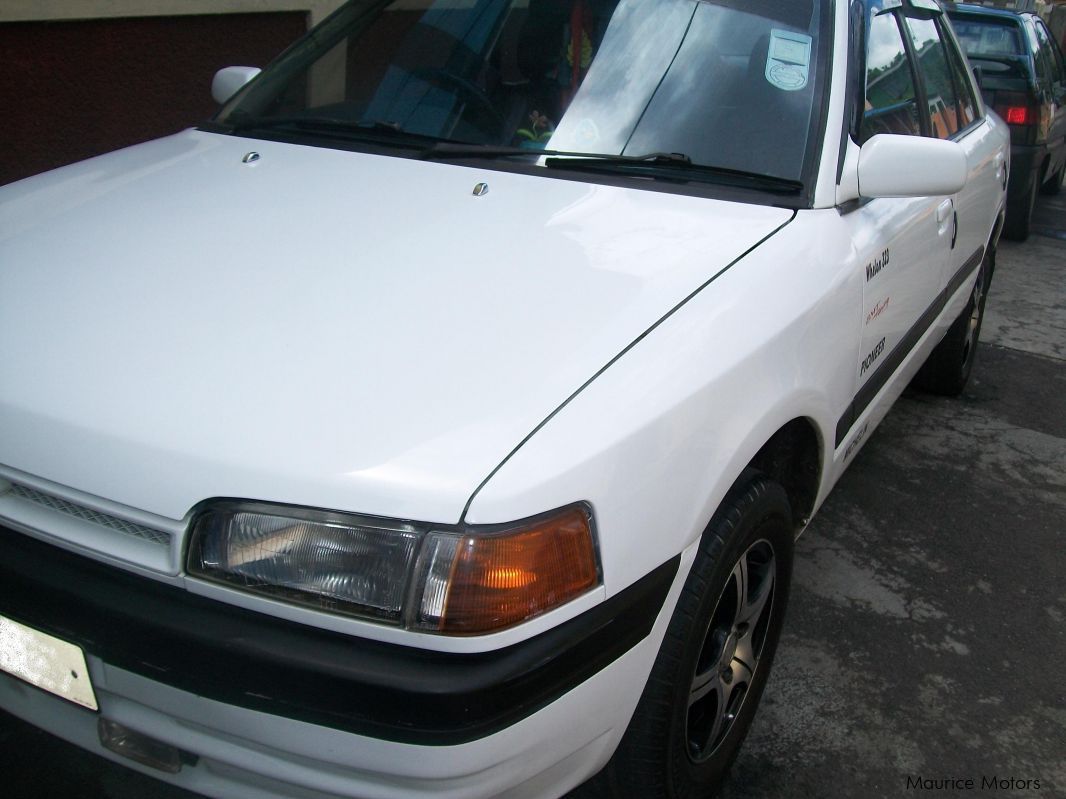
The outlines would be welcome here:
[[[81,647],[100,714],[194,755],[167,778],[192,789],[510,796],[609,756],[678,564],[527,641],[453,654],[232,607],[0,527],[0,614]],[[0,706],[102,751],[90,711],[6,675]]]

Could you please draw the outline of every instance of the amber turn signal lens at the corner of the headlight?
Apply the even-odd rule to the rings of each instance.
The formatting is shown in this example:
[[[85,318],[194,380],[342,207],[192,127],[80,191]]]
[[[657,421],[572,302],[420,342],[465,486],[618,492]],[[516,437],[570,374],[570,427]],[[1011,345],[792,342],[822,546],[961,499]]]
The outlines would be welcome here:
[[[581,508],[503,534],[463,536],[447,549],[454,553],[447,587],[441,586],[439,615],[430,614],[440,633],[501,630],[599,583],[592,528]]]

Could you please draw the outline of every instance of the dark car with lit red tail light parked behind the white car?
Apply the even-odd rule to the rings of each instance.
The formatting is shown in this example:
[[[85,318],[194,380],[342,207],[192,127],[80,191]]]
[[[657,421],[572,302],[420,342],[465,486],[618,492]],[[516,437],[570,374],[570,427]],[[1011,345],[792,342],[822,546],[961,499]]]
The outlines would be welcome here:
[[[1029,237],[1037,190],[1057,194],[1066,172],[1066,61],[1036,14],[949,6],[985,102],[1011,128],[1010,239]]]

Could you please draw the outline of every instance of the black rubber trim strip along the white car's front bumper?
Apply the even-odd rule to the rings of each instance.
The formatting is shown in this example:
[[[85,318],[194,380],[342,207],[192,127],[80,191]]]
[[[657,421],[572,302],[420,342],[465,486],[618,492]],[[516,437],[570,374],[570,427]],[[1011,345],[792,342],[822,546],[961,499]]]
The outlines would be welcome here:
[[[446,746],[530,716],[643,640],[679,564],[680,555],[533,638],[453,654],[245,610],[0,526],[0,615],[219,702],[385,740]]]

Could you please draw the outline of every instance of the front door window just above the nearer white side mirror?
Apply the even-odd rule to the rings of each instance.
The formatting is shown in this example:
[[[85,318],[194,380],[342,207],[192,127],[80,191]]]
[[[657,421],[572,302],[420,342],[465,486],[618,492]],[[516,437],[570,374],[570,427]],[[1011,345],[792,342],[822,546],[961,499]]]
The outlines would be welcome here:
[[[867,37],[866,110],[859,144],[877,133],[921,134],[910,60],[895,14],[878,14]]]

